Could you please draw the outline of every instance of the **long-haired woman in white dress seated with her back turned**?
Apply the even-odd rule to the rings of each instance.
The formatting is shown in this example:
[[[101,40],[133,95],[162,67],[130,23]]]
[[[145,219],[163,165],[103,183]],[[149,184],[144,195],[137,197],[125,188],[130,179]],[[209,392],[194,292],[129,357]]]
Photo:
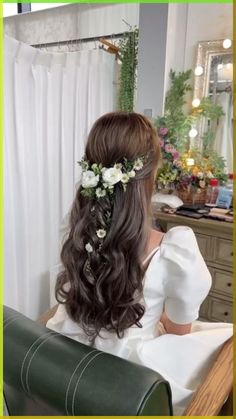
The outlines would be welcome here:
[[[211,278],[190,228],[151,229],[159,158],[156,130],[144,116],[96,121],[61,252],[61,304],[47,326],[156,369],[180,415],[232,328],[192,325]]]

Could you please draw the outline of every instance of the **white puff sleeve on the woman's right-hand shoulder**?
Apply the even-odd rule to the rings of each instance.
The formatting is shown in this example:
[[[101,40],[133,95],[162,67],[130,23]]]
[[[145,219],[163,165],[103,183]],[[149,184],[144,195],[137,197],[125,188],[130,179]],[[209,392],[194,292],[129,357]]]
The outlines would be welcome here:
[[[189,227],[174,227],[162,242],[166,264],[164,306],[174,323],[187,324],[198,318],[199,308],[211,287],[211,275]]]

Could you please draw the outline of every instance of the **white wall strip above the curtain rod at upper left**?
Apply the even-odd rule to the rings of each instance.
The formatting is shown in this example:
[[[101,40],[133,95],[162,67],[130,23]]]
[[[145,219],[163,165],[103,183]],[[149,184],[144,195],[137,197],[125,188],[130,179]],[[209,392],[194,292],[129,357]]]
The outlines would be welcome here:
[[[4,18],[4,32],[26,44],[109,35],[138,25],[139,4],[69,4]]]

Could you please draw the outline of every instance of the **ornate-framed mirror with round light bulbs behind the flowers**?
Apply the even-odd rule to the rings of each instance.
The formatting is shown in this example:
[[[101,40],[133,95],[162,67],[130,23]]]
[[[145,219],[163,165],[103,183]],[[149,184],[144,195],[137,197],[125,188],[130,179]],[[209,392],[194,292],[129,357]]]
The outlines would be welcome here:
[[[228,173],[233,172],[233,53],[229,39],[199,42],[194,80],[194,100],[211,97],[222,107],[224,115],[215,121],[202,118],[199,127],[200,138],[206,126],[213,130],[213,148],[226,161]]]

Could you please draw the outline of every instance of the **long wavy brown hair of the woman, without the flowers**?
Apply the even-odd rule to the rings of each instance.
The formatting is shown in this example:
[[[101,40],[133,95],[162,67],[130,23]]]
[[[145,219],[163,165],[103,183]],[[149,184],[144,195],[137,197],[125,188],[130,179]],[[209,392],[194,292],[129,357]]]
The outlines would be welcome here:
[[[150,232],[150,209],[160,150],[156,130],[137,113],[113,112],[93,125],[85,158],[112,167],[124,158],[145,156],[124,191],[115,185],[114,196],[92,199],[78,189],[71,214],[70,232],[61,251],[64,270],[56,284],[56,298],[65,304],[70,318],[78,322],[93,341],[102,329],[119,338],[132,325],[141,327],[141,304]],[[104,215],[112,214],[102,242],[96,230],[107,228]],[[94,251],[88,253],[86,243]],[[100,245],[100,246],[99,246]],[[89,268],[88,267],[89,262]]]

